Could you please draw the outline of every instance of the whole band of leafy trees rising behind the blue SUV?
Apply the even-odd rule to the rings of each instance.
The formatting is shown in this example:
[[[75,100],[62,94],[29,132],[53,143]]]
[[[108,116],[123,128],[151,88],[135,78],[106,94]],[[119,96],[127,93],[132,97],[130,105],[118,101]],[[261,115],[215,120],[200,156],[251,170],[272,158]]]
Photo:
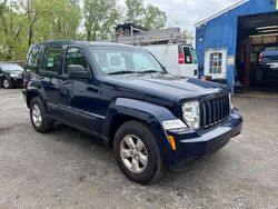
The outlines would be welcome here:
[[[34,42],[108,39],[123,21],[157,29],[166,20],[157,7],[145,8],[143,0],[126,0],[125,8],[117,0],[0,0],[0,61],[24,60]]]

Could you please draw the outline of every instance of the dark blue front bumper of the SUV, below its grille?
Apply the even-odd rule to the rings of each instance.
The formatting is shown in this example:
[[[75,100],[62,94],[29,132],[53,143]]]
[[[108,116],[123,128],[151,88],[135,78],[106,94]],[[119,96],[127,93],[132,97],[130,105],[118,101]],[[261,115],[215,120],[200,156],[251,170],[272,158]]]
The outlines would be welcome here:
[[[237,110],[232,110],[229,119],[222,123],[200,131],[171,131],[176,138],[177,150],[170,169],[190,167],[196,161],[218,151],[229,140],[241,132],[242,118]]]

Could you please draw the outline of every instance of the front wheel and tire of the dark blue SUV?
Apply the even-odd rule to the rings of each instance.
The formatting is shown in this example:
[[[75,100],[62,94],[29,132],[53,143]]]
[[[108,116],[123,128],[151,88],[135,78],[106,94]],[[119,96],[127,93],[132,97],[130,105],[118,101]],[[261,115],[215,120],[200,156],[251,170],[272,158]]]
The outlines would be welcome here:
[[[155,182],[165,173],[159,146],[142,122],[123,123],[116,132],[113,150],[122,172],[138,183]]]

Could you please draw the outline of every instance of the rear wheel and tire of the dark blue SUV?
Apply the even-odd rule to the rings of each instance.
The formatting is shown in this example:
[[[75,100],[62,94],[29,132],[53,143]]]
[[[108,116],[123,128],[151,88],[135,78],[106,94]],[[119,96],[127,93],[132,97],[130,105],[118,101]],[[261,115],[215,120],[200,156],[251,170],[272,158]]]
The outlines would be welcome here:
[[[46,107],[41,99],[36,97],[30,103],[30,119],[36,131],[46,133],[53,127],[53,120],[46,115]]]

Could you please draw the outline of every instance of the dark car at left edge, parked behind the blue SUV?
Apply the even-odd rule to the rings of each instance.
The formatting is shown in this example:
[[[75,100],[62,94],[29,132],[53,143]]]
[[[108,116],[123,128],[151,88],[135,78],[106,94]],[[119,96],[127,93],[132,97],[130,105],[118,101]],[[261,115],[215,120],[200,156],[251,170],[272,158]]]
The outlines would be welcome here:
[[[23,70],[16,63],[0,63],[0,84],[6,89],[22,86]]]

